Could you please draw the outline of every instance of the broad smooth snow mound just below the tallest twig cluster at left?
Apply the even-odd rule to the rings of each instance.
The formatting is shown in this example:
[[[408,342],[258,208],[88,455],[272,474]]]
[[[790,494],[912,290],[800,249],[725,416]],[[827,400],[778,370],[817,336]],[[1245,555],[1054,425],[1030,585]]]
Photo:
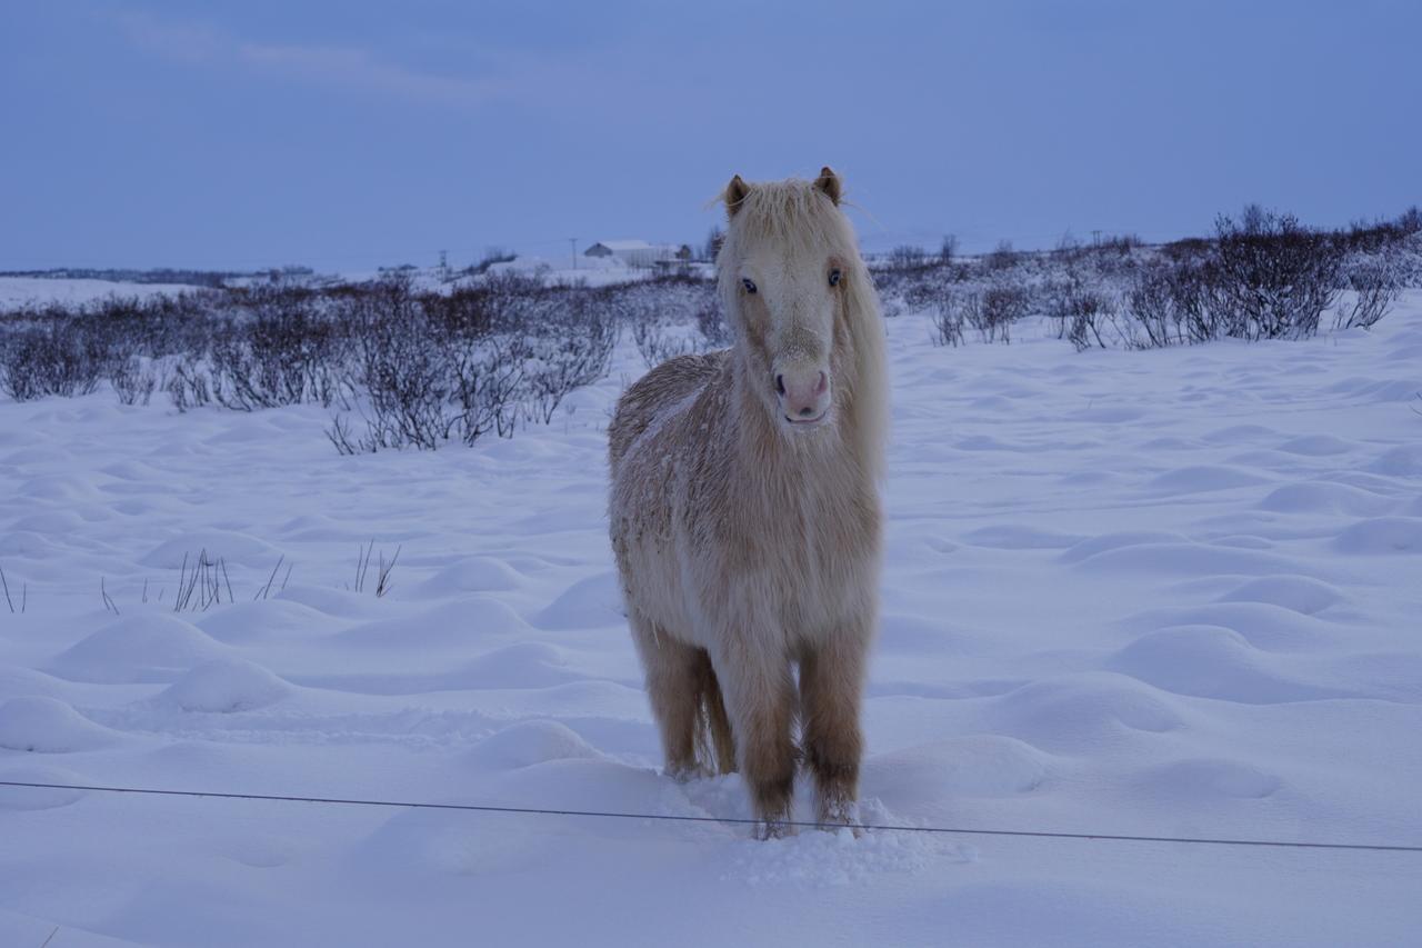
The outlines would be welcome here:
[[[228,651],[193,625],[155,612],[104,626],[61,652],[54,672],[75,682],[169,683]]]

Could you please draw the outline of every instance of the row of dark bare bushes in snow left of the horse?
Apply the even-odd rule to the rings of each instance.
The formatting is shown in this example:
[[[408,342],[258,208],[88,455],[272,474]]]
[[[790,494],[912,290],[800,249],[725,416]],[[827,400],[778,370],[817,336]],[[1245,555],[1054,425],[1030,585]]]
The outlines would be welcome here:
[[[607,374],[624,329],[648,363],[675,354],[658,339],[725,342],[707,280],[593,289],[491,273],[435,293],[397,275],[0,313],[0,390],[78,396],[107,380],[127,404],[161,391],[179,411],[314,403],[333,410],[341,451],[435,448],[552,421]]]

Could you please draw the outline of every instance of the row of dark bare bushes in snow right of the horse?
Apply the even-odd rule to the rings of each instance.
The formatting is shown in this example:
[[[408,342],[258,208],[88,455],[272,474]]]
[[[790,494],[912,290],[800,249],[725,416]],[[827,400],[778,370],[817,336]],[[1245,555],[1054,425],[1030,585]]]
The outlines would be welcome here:
[[[912,259],[876,268],[886,313],[927,309],[933,342],[958,344],[967,329],[1010,342],[1024,316],[1044,316],[1078,349],[1155,347],[1213,339],[1303,339],[1325,325],[1368,327],[1405,286],[1422,279],[1422,215],[1303,226],[1257,206],[1220,216],[1213,239],[1143,248],[1108,239],[1065,242],[1049,253],[998,248],[970,260]]]

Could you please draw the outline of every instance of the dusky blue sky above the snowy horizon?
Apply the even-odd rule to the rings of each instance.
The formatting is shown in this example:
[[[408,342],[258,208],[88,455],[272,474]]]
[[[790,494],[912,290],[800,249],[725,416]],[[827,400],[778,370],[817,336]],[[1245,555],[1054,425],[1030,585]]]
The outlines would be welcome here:
[[[832,164],[866,243],[1422,202],[1422,4],[48,3],[0,28],[0,269],[701,241]]]

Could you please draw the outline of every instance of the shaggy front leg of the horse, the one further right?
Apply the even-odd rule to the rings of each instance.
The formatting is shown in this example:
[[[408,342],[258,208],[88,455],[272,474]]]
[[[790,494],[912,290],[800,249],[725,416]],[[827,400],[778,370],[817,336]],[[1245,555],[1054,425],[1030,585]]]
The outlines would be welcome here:
[[[801,720],[805,759],[815,774],[820,823],[849,824],[859,796],[867,623],[842,629],[801,653]]]

